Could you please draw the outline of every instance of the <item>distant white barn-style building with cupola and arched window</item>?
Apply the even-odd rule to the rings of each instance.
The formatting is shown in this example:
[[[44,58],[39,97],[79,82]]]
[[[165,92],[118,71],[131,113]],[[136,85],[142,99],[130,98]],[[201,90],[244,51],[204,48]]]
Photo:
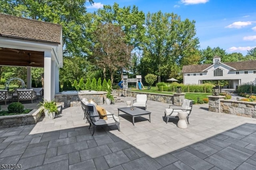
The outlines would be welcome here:
[[[215,56],[212,64],[184,65],[182,68],[183,83],[202,84],[204,80],[229,80],[228,88],[244,83],[256,84],[256,60],[221,62]]]

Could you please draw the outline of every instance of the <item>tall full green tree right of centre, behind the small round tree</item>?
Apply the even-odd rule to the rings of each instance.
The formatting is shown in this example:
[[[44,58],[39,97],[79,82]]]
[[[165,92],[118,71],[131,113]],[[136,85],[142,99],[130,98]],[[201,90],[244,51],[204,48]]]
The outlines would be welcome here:
[[[185,19],[174,13],[148,13],[146,16],[146,38],[144,41],[144,57],[142,64],[150,62],[158,81],[168,77],[172,66],[182,67],[184,57],[196,54],[198,38],[195,38],[195,21]],[[185,61],[184,61],[185,62]]]

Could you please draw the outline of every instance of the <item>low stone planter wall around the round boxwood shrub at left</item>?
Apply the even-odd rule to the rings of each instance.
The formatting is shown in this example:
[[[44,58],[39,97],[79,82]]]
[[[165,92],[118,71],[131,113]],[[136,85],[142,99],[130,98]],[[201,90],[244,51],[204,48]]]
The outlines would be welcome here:
[[[0,128],[36,124],[42,116],[40,110],[41,109],[33,109],[30,113],[26,114],[0,116]]]

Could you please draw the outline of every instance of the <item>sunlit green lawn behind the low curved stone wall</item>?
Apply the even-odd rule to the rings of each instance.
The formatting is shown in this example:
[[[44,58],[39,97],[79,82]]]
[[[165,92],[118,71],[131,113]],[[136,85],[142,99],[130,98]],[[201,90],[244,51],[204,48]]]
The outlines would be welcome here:
[[[146,89],[145,90],[136,90],[136,89],[132,89],[131,91],[140,91],[140,92],[145,92],[145,93],[157,93],[157,94],[167,94],[167,95],[172,95],[173,93],[176,92],[169,92],[169,91],[159,91],[158,89],[156,89],[156,87],[151,87],[151,89]],[[189,100],[194,100],[195,102],[197,102],[197,98],[199,97],[200,100],[204,99],[204,98],[208,98],[208,95],[212,95],[211,93],[186,93],[185,94],[185,99],[189,99]]]

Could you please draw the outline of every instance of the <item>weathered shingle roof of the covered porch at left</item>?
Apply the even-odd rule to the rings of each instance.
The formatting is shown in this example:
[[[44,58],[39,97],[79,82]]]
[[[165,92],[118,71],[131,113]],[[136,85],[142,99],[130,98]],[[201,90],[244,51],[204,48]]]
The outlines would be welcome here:
[[[0,36],[60,43],[62,26],[0,13]]]

